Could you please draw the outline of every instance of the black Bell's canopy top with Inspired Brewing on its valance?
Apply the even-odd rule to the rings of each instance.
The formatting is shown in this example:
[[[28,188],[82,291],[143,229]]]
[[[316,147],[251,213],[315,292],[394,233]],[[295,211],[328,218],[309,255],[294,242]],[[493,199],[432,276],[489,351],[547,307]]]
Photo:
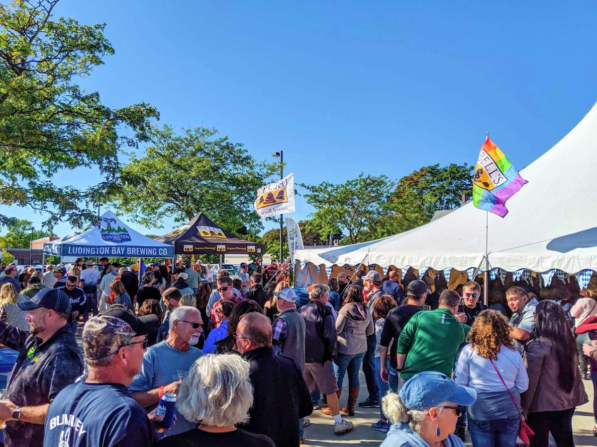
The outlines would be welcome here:
[[[174,246],[176,254],[257,254],[261,244],[245,241],[214,224],[199,213],[178,229],[155,238]]]

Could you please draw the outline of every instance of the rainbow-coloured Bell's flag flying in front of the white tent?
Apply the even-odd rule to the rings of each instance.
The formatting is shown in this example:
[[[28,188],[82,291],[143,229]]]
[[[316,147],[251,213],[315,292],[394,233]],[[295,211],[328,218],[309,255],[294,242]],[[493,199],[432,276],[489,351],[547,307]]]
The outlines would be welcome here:
[[[508,213],[506,200],[527,183],[500,148],[487,137],[475,166],[473,204],[503,218]]]

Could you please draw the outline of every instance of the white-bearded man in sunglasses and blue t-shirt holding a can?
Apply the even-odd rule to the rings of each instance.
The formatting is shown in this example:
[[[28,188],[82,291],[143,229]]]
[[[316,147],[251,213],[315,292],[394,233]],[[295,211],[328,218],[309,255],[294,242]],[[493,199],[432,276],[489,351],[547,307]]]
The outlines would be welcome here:
[[[131,396],[143,408],[152,410],[164,393],[178,393],[181,380],[189,373],[201,349],[190,346],[199,342],[203,330],[201,312],[190,306],[180,306],[170,313],[170,331],[162,342],[147,348],[141,371],[128,386]],[[177,413],[177,420],[166,436],[187,432],[196,424]]]

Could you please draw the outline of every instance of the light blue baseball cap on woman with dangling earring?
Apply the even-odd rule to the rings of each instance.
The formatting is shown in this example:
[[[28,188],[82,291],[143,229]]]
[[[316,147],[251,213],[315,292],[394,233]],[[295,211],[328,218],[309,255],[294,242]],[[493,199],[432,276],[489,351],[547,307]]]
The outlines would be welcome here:
[[[423,410],[442,402],[468,406],[477,400],[477,392],[457,385],[445,374],[424,371],[407,380],[400,390],[400,398],[408,409]]]

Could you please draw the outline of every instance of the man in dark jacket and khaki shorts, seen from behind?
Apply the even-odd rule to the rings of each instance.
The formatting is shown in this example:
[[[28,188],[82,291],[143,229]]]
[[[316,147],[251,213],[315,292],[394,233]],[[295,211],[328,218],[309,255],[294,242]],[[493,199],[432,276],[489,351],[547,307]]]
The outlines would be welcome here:
[[[332,360],[336,358],[336,322],[327,303],[330,300],[330,288],[324,284],[315,284],[309,292],[309,303],[301,306],[298,313],[303,315],[306,324],[304,337],[304,373],[303,377],[309,390],[324,393],[328,408],[321,411],[334,417],[334,433],[343,434],[354,428],[352,422],[344,421],[340,416],[336,374]]]

